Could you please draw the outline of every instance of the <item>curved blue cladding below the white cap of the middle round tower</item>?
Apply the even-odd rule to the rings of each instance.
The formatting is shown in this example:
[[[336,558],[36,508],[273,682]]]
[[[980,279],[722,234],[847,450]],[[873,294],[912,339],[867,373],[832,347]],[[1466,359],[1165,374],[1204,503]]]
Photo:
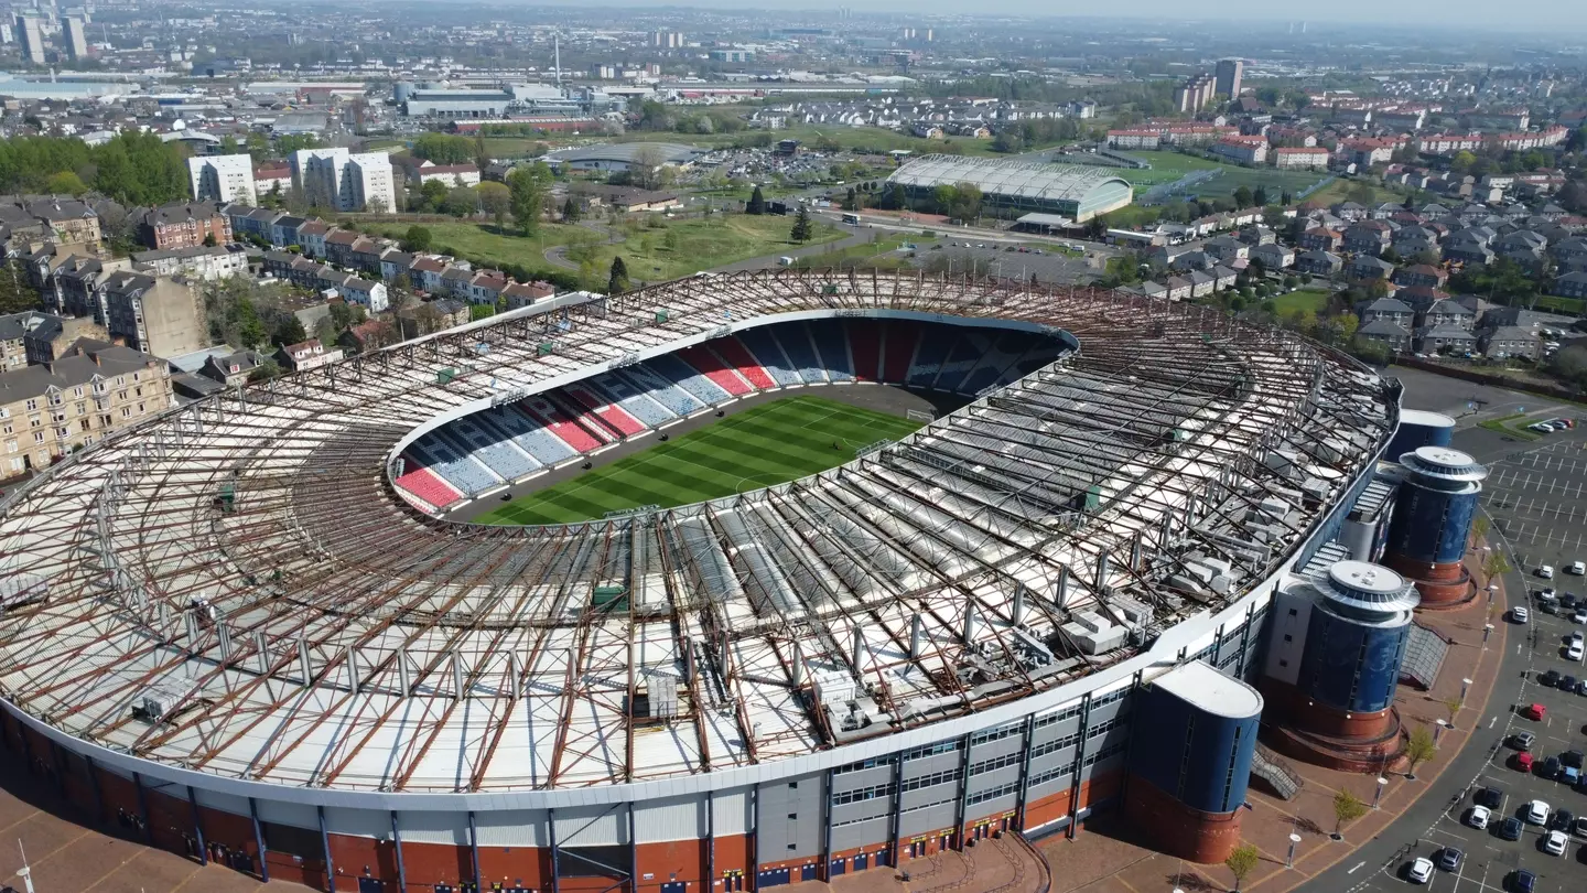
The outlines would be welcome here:
[[[1393,702],[1409,636],[1409,623],[1384,629],[1314,610],[1300,661],[1300,688],[1338,710],[1382,710]]]

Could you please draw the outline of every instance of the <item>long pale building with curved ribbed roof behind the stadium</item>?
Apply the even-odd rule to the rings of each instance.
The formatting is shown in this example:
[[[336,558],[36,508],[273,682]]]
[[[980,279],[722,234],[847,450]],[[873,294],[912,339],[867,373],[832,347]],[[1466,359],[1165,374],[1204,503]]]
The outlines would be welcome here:
[[[938,186],[968,183],[981,189],[986,213],[1051,213],[1079,224],[1133,200],[1133,189],[1114,170],[938,154],[905,164],[887,183],[903,186],[913,199],[930,197]]]

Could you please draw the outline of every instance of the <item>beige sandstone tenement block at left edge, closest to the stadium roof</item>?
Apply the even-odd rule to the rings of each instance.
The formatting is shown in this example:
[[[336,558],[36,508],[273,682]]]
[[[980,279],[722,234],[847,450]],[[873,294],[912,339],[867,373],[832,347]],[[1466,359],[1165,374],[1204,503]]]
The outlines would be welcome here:
[[[0,475],[44,469],[114,431],[171,407],[170,370],[159,358],[78,338],[49,362],[0,373]]]

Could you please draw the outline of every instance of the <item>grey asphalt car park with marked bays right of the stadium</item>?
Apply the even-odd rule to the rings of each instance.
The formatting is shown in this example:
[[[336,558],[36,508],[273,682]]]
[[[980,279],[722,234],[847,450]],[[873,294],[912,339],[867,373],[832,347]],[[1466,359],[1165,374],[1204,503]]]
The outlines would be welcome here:
[[[1455,439],[1455,446],[1489,446],[1492,432],[1470,431]],[[1463,443],[1471,440],[1473,443]],[[1587,837],[1571,834],[1563,856],[1549,855],[1543,849],[1546,829],[1522,823],[1519,841],[1501,836],[1504,818],[1522,818],[1527,804],[1541,799],[1550,812],[1570,810],[1587,815],[1587,788],[1573,790],[1568,783],[1546,779],[1541,772],[1522,771],[1517,764],[1517,748],[1512,734],[1530,731],[1535,736],[1531,755],[1541,767],[1549,756],[1566,752],[1587,752],[1587,696],[1539,683],[1547,671],[1560,675],[1587,678],[1582,661],[1568,661],[1565,644],[1571,632],[1584,629],[1571,617],[1541,610],[1538,593],[1554,586],[1558,594],[1587,596],[1587,577],[1571,575],[1566,569],[1577,559],[1587,561],[1587,437],[1582,429],[1563,431],[1544,440],[1512,442],[1501,456],[1485,456],[1490,475],[1485,483],[1484,507],[1492,518],[1492,542],[1512,556],[1517,574],[1509,580],[1525,577],[1530,617],[1525,624],[1516,623],[1509,613],[1493,613],[1493,623],[1508,623],[1512,659],[1504,669],[1520,672],[1520,690],[1514,704],[1495,702],[1481,720],[1489,736],[1473,740],[1473,747],[1487,747],[1487,761],[1476,777],[1449,779],[1446,809],[1438,820],[1408,844],[1401,858],[1382,866],[1374,877],[1362,879],[1354,888],[1404,890],[1409,885],[1411,860],[1438,858],[1446,847],[1462,850],[1458,871],[1433,871],[1425,888],[1441,891],[1514,890],[1519,869],[1536,876],[1536,890],[1546,893],[1579,893],[1587,890]],[[1554,578],[1543,580],[1536,569],[1541,564],[1554,567]],[[1560,612],[1570,615],[1573,612]],[[1520,707],[1541,704],[1546,713],[1541,720],[1527,718]],[[1463,790],[1457,785],[1463,785]],[[1485,829],[1470,826],[1474,796],[1482,788],[1501,791],[1500,806]],[[1441,791],[1433,791],[1438,796]],[[1363,869],[1365,871],[1365,869]]]

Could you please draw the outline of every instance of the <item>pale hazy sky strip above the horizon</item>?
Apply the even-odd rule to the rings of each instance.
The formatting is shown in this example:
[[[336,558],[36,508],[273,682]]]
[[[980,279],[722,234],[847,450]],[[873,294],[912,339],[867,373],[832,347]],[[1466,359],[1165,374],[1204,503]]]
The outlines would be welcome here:
[[[533,3],[533,0],[530,0]],[[548,0],[543,0],[548,2]],[[1049,3],[1032,0],[549,0],[549,3],[581,6],[698,6],[713,10],[836,10],[925,13],[925,14],[1022,14],[1022,16],[1109,16],[1155,19],[1163,30],[1189,19],[1263,19],[1298,21],[1289,3],[1276,0],[1224,0],[1190,6],[1182,0],[1130,0],[1128,3]],[[1439,30],[1504,30],[1535,32],[1557,38],[1560,44],[1587,43],[1587,0],[1382,0],[1379,3],[1328,3],[1309,16],[1312,24],[1325,22],[1393,22],[1427,24]]]

